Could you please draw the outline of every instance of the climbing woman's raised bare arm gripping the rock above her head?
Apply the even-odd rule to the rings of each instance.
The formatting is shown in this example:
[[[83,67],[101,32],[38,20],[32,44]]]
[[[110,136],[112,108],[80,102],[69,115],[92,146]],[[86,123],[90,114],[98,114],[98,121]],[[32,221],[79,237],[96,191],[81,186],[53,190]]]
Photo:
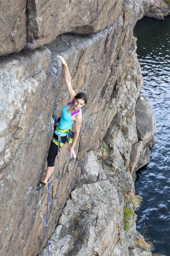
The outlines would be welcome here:
[[[76,95],[76,93],[74,92],[72,85],[71,85],[70,72],[68,70],[68,66],[67,66],[67,63],[65,62],[65,59],[60,55],[57,55],[57,58],[59,58],[60,61],[62,62],[62,64],[64,65],[64,77],[65,77],[65,82],[67,85],[67,90],[69,93],[69,102],[71,102],[74,100],[74,96]]]

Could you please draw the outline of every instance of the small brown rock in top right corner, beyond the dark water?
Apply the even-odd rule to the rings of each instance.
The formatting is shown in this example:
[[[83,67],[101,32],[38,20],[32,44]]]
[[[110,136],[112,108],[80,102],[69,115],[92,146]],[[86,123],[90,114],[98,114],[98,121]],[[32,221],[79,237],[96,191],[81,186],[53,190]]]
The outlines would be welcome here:
[[[154,5],[150,6],[145,16],[155,18],[157,20],[164,20],[164,17],[170,15],[170,3],[166,3],[165,0],[155,0]]]

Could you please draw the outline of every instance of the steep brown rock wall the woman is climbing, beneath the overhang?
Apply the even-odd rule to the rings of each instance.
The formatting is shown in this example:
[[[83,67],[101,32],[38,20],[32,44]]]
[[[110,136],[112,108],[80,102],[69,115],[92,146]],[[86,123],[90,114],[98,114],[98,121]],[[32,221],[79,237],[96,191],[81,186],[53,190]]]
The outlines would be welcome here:
[[[3,198],[6,198],[0,198],[3,255],[13,251],[19,256],[32,255],[39,253],[45,245],[44,236],[37,236],[37,233],[45,234],[40,211],[46,211],[46,190],[37,193],[36,185],[44,176],[56,96],[59,96],[58,116],[68,100],[62,65],[56,55],[65,57],[75,92],[88,92],[89,102],[84,108],[80,137],[75,147],[79,162],[70,160],[69,145],[64,145],[51,176],[49,234],[54,232],[71,190],[79,183],[86,153],[98,149],[115,111],[108,107],[116,81],[116,76],[111,79],[111,63],[117,54],[116,51],[112,53],[112,49],[118,45],[115,35],[116,40],[123,41],[122,17],[95,35],[61,35],[48,46],[49,49],[24,50],[1,58],[0,118],[3,124],[1,135],[5,139],[0,142],[0,185]],[[126,43],[131,44],[130,36]],[[110,62],[111,54],[113,60]],[[126,66],[125,60],[119,59],[122,68]],[[118,72],[119,67],[114,72],[116,70]],[[115,101],[111,100],[111,103]],[[102,179],[100,173],[99,169],[99,178]],[[21,243],[21,239],[26,243]]]

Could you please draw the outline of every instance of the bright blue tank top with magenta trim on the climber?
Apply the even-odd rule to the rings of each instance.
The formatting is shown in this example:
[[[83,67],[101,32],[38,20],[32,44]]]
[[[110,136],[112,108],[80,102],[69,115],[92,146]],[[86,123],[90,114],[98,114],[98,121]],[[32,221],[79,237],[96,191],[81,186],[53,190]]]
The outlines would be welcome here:
[[[64,108],[62,108],[62,113],[61,113],[61,118],[60,118],[60,121],[59,123],[57,124],[57,127],[60,129],[60,130],[65,130],[65,129],[68,129],[71,127],[71,125],[74,124],[73,121],[71,121],[71,117],[74,116],[75,114],[79,113],[79,112],[82,112],[81,108],[74,111],[74,112],[71,112],[71,113],[68,113],[67,112],[67,109],[68,109],[68,106],[73,104],[74,102],[69,102]],[[65,136],[67,134],[67,131],[65,133],[61,133],[59,131],[57,131],[55,129],[55,134],[57,135],[61,135],[61,136]]]

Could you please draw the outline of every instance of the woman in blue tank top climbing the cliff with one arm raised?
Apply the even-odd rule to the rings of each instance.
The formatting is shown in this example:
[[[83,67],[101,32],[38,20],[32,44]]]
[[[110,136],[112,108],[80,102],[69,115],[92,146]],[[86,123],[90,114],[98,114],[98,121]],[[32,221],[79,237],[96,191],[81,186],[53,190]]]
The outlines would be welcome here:
[[[71,86],[71,76],[64,58],[60,55],[57,55],[57,58],[59,58],[62,64],[64,65],[64,76],[69,93],[69,103],[64,108],[62,108],[61,118],[60,121],[57,123],[56,129],[54,131],[54,137],[51,141],[51,145],[48,151],[48,165],[46,175],[44,179],[40,182],[40,184],[37,186],[37,191],[42,190],[45,186],[48,185],[48,179],[54,171],[54,162],[58,153],[58,140],[59,138],[61,139],[61,146],[66,143],[68,130],[74,123],[74,137],[70,148],[70,152],[71,157],[76,157],[74,147],[77,143],[80,127],[82,124],[81,108],[87,103],[87,95],[85,93],[78,93],[77,95],[75,94]]]

